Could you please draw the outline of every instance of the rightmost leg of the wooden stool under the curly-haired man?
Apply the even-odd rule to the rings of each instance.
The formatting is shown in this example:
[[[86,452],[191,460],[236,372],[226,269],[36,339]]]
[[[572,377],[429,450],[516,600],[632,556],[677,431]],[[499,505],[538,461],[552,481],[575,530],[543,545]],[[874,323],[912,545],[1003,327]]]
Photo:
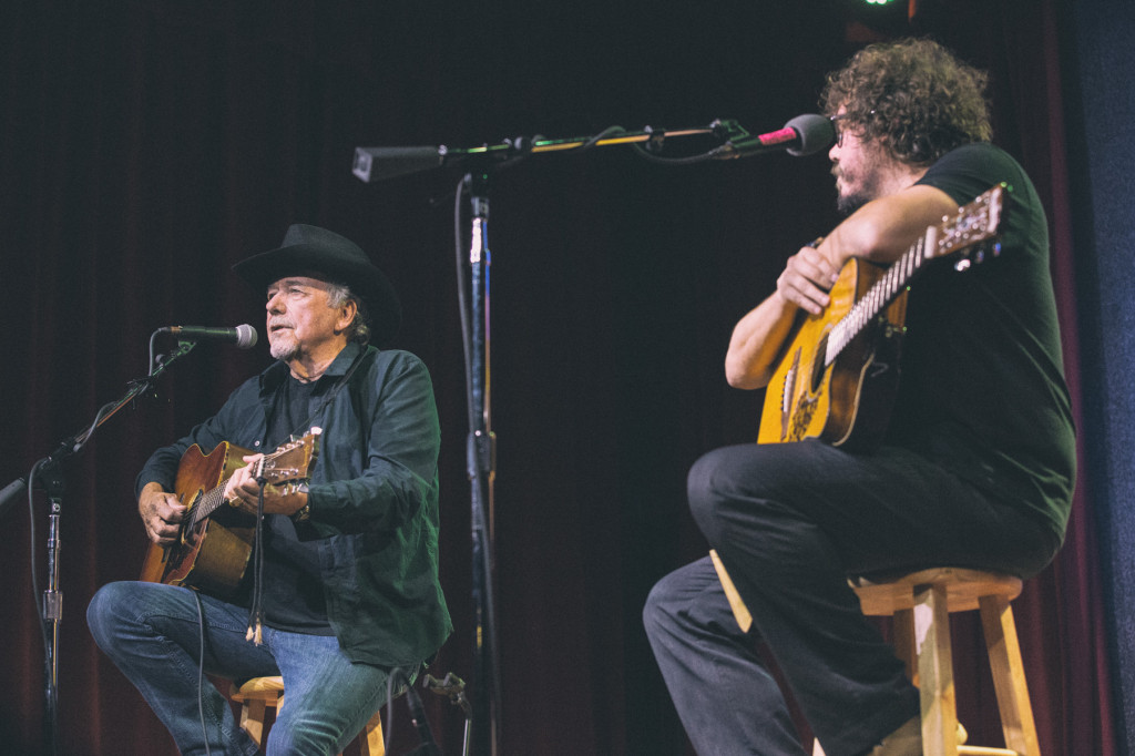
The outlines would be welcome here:
[[[1012,607],[1003,596],[982,596],[978,600],[1004,744],[1024,756],[1041,756]]]

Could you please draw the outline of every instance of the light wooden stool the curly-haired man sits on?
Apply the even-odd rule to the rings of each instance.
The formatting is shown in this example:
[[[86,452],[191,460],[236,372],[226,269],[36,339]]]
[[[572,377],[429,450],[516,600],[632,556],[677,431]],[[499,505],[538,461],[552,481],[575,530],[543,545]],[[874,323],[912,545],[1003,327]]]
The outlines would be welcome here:
[[[716,552],[711,551],[709,555],[733,615],[747,632],[753,618]],[[935,568],[886,579],[855,578],[849,582],[859,597],[864,614],[894,618],[896,652],[920,692],[925,756],[1041,755],[1017,627],[1009,605],[1020,594],[1019,578],[980,570]],[[959,744],[949,613],[973,610],[981,611],[1008,749]],[[818,744],[814,753],[823,753]]]

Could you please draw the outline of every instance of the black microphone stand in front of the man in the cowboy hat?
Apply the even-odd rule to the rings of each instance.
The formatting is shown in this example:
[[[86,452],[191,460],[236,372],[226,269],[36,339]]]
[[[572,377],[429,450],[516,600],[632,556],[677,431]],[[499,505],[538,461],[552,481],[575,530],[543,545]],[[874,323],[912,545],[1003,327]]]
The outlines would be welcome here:
[[[154,331],[157,335],[158,331]],[[151,345],[153,343],[153,336],[151,335]],[[176,360],[180,359],[190,352],[196,345],[195,342],[179,342],[177,350],[174,351],[165,360],[161,360],[155,364],[155,361],[151,358],[151,369],[150,373],[142,379],[135,379],[129,381],[129,388],[126,394],[117,402],[111,402],[104,404],[95,413],[93,422],[85,427],[84,430],[70,436],[64,440],[50,455],[43,457],[32,467],[32,472],[28,474],[26,482],[23,479],[14,480],[11,484],[6,486],[2,492],[0,492],[0,516],[3,515],[6,510],[12,505],[18,495],[22,494],[25,488],[27,490],[28,499],[32,498],[32,494],[36,487],[36,484],[44,490],[48,496],[49,502],[49,515],[48,515],[48,587],[43,591],[42,604],[40,607],[41,623],[40,628],[43,632],[43,704],[44,704],[44,737],[48,741],[49,753],[59,753],[59,623],[62,621],[62,605],[64,595],[59,587],[59,553],[62,546],[62,540],[60,538],[61,532],[61,518],[64,511],[64,492],[67,488],[66,476],[64,474],[62,463],[69,457],[77,454],[86,445],[94,431],[102,426],[107,420],[109,420],[116,412],[126,406],[129,402],[134,401],[137,396],[143,393],[149,393],[153,383],[161,376],[166,369],[173,364]],[[151,350],[152,354],[152,350]],[[34,520],[32,522],[33,534],[34,534]],[[33,538],[32,553],[35,553],[35,543]],[[34,562],[34,558],[33,558]],[[39,589],[36,583],[39,581],[35,579],[35,569],[33,564],[32,569],[32,583],[35,595],[39,595]]]

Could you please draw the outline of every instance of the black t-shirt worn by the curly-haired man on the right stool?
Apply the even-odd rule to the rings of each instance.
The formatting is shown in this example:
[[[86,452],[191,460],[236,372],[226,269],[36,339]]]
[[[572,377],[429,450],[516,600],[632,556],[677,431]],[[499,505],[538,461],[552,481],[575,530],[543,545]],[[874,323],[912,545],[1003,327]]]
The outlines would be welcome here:
[[[1016,160],[984,143],[949,152],[918,183],[966,204],[1001,182],[1011,192],[1000,255],[964,272],[934,261],[911,286],[888,442],[1040,514],[1062,536],[1075,435],[1036,190]]]

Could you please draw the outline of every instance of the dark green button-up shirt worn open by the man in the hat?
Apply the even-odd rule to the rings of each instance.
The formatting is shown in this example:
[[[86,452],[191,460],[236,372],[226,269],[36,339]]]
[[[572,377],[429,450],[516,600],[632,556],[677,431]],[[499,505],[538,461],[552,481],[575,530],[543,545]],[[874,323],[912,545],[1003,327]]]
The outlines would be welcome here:
[[[353,661],[405,666],[432,655],[453,630],[438,580],[437,406],[417,356],[348,344],[319,379],[312,411],[356,358],[358,369],[312,420],[323,432],[308,493],[310,522],[339,645]],[[286,376],[277,362],[233,392],[216,415],[154,452],[137,492],[150,481],[174,490],[178,462],[194,444],[205,454],[221,442],[272,451],[261,447]]]

